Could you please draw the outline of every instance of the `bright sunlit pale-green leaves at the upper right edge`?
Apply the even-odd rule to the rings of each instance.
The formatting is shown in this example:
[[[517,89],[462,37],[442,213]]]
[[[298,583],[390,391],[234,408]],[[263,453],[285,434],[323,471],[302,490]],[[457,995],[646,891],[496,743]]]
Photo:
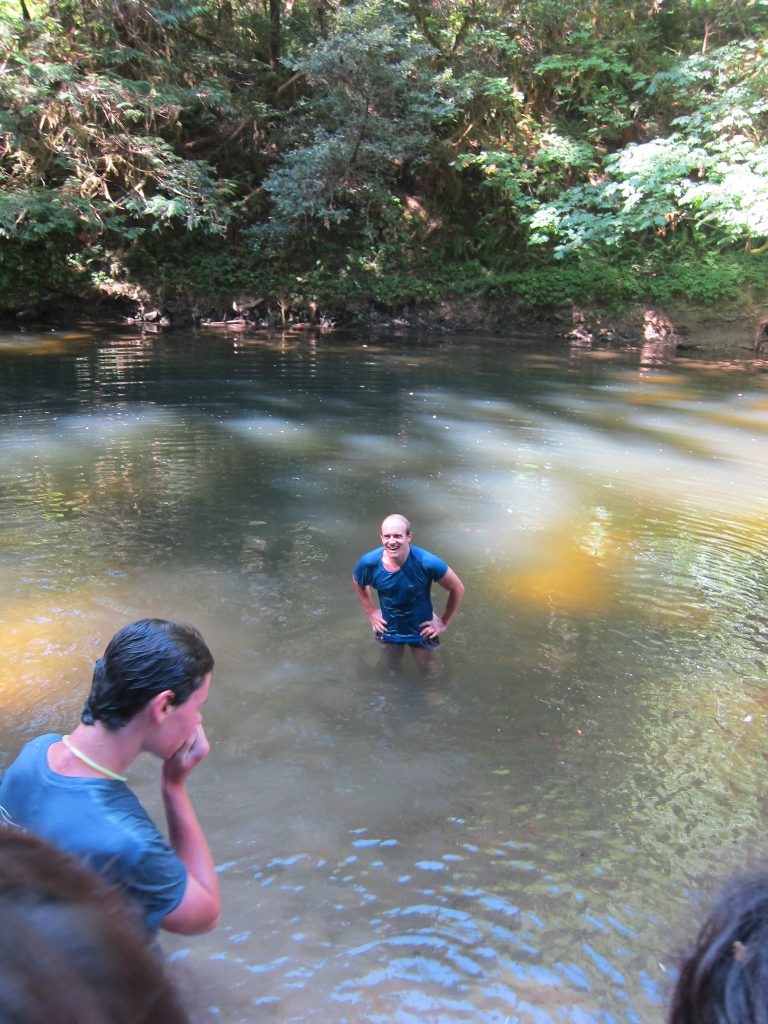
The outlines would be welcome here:
[[[652,94],[685,90],[677,130],[606,157],[599,180],[537,211],[531,242],[560,255],[599,251],[684,223],[715,245],[768,236],[765,57],[765,44],[748,40],[657,75]]]

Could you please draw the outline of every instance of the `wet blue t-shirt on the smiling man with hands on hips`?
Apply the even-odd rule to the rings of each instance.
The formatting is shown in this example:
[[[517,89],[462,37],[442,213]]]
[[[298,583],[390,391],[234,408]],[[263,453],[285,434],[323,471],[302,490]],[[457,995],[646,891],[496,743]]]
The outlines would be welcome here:
[[[424,548],[411,546],[408,558],[396,572],[382,564],[384,548],[369,551],[354,567],[354,579],[360,587],[378,591],[381,614],[387,624],[386,633],[379,634],[388,643],[424,643],[423,623],[432,618],[429,591],[433,583],[447,572],[447,564]]]

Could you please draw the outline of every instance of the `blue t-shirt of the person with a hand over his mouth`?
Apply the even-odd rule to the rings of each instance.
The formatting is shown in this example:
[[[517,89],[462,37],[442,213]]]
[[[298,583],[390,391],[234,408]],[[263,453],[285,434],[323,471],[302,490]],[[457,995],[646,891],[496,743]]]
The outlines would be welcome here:
[[[0,782],[0,813],[122,889],[151,931],[179,905],[186,868],[125,782],[59,775],[48,733],[22,750]]]

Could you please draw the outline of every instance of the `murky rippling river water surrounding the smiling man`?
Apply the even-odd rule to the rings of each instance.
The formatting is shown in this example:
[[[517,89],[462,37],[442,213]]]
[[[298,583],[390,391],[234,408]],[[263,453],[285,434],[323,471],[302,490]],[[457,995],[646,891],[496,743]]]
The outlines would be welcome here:
[[[760,367],[681,353],[0,336],[0,766],[124,623],[194,623],[196,1020],[660,1021],[765,849],[767,433]],[[427,679],[351,588],[393,511],[467,588]],[[157,762],[131,784],[162,820]]]

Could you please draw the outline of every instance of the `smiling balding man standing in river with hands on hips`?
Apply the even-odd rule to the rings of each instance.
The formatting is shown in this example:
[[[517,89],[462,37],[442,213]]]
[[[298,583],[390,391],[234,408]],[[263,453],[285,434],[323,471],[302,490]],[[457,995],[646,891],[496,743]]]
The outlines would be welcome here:
[[[352,573],[352,585],[376,639],[383,645],[390,670],[399,666],[408,645],[421,671],[426,672],[430,652],[437,647],[438,637],[462,602],[464,585],[441,558],[412,546],[413,536],[403,515],[388,515],[381,524],[381,547],[360,558]],[[432,608],[433,583],[449,594],[441,615]],[[379,595],[379,608],[374,606],[374,590]]]

